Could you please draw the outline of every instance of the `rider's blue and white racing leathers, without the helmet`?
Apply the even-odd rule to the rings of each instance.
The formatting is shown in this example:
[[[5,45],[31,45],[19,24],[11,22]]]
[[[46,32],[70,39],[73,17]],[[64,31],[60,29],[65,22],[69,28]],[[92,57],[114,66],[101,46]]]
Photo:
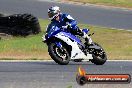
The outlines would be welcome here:
[[[50,25],[56,25],[59,28],[67,29],[73,35],[82,36],[88,42],[88,35],[77,26],[77,21],[74,20],[69,14],[59,14],[59,21],[52,19]]]

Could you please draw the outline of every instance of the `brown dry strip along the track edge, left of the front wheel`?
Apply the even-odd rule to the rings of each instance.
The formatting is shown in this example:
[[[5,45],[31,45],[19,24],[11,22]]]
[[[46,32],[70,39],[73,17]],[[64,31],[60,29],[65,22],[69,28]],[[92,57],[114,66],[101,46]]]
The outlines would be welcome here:
[[[26,52],[2,52],[0,53],[0,59],[12,59],[12,60],[48,60],[51,59],[48,53],[26,53]]]

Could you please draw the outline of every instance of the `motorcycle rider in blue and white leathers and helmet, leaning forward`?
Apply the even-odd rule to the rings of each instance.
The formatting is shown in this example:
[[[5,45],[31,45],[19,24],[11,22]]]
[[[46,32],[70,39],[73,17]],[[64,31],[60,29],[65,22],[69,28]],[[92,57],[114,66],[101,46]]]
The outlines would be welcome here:
[[[58,6],[52,6],[48,9],[48,16],[51,20],[51,24],[55,24],[59,28],[65,28],[74,35],[82,36],[86,42],[88,42],[88,35],[77,26],[76,20],[74,20],[69,14],[63,14]]]

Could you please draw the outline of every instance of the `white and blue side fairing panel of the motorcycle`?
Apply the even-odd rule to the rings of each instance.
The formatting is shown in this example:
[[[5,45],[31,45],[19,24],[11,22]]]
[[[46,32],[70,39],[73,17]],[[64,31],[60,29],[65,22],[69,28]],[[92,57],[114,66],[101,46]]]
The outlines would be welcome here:
[[[65,43],[67,43],[68,45],[70,45],[72,47],[72,51],[71,51],[71,60],[73,59],[93,59],[91,54],[87,54],[85,55],[78,47],[78,43],[81,44],[81,41],[76,38],[75,36],[73,37],[72,35],[70,35],[69,33],[65,33],[65,32],[59,32],[58,34],[55,35],[56,38],[61,39],[62,41],[64,41]],[[81,44],[83,45],[83,44]]]

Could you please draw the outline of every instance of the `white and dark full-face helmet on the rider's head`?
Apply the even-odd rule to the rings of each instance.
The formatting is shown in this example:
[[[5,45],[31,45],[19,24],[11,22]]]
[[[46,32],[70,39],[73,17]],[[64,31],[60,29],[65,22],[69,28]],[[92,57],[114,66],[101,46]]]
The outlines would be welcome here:
[[[58,6],[52,6],[48,9],[49,19],[54,19],[60,14],[60,8]]]

